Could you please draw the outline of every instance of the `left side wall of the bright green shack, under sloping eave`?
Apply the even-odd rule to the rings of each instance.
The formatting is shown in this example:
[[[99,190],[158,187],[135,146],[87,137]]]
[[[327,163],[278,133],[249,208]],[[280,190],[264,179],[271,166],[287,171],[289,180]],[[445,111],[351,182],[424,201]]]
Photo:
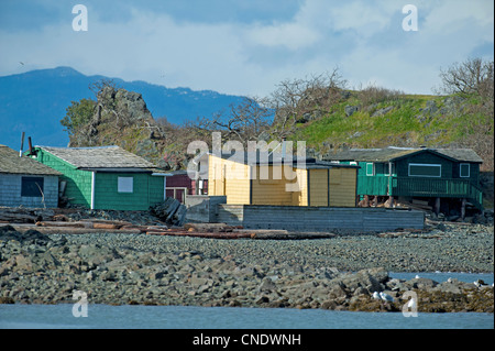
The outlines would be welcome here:
[[[80,171],[65,161],[37,149],[37,161],[61,172],[61,182],[67,182],[65,196],[70,204],[90,207],[91,205],[91,172]]]

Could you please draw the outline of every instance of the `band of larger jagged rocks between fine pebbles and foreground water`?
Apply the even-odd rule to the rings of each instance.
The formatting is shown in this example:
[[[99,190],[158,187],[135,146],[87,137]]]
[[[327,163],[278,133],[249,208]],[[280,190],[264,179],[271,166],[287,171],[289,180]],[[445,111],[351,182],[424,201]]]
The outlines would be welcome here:
[[[68,303],[74,290],[86,292],[94,304],[360,311],[400,311],[415,296],[418,312],[493,312],[493,286],[483,282],[403,281],[381,267],[345,273],[270,257],[250,265],[200,251],[143,251],[132,238],[114,249],[0,228],[0,303]],[[377,293],[393,300],[374,298]]]

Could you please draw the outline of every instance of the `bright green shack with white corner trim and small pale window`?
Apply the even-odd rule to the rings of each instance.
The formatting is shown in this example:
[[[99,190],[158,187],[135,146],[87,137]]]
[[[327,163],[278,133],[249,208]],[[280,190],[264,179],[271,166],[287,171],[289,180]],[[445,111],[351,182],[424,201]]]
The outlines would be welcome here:
[[[61,193],[74,205],[147,210],[165,198],[166,175],[119,146],[36,146],[30,155],[63,174]]]

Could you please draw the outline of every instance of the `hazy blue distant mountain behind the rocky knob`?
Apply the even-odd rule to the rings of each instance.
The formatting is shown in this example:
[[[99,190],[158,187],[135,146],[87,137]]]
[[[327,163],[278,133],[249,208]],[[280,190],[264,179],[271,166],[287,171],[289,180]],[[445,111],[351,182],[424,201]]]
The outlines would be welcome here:
[[[68,134],[59,122],[66,108],[70,101],[95,99],[89,85],[101,79],[112,79],[118,87],[139,91],[153,117],[166,117],[170,123],[209,117],[242,100],[211,90],[172,89],[145,81],[85,76],[70,67],[32,70],[0,77],[0,144],[18,150],[24,131],[35,144],[66,146]]]

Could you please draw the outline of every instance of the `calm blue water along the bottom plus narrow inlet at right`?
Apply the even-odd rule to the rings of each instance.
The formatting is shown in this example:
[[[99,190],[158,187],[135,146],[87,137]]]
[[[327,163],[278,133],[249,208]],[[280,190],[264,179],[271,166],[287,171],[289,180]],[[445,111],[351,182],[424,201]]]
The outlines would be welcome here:
[[[413,278],[415,273],[391,273]],[[418,273],[444,282],[483,279],[493,274]],[[350,312],[289,308],[91,305],[88,317],[74,317],[73,304],[0,305],[0,329],[493,329],[493,314]]]

